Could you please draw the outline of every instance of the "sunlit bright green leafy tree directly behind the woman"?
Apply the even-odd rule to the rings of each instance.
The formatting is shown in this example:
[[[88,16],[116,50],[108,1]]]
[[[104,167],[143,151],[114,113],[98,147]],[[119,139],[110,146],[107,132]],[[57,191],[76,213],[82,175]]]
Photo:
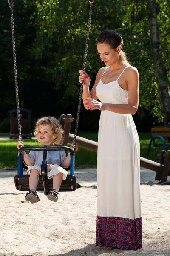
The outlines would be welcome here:
[[[40,4],[41,3],[41,4]],[[74,0],[54,2],[53,0],[37,0],[37,52],[48,52],[48,67],[43,67],[56,84],[56,89],[65,87],[65,102],[67,99],[78,99],[78,73],[82,68],[85,37],[88,20],[88,1]],[[156,78],[153,76],[154,61],[150,41],[150,27],[148,23],[147,3],[131,0],[96,0],[92,14],[91,33],[88,47],[88,61],[86,71],[94,84],[96,73],[101,67],[99,57],[96,56],[96,37],[104,29],[114,29],[123,35],[125,51],[130,63],[135,65],[140,75],[140,105],[139,115],[142,119],[148,110],[161,121],[161,107],[159,103]],[[64,12],[64,13],[63,13]],[[40,55],[39,55],[40,58]],[[70,102],[69,102],[70,103]],[[88,115],[86,111],[86,116]]]

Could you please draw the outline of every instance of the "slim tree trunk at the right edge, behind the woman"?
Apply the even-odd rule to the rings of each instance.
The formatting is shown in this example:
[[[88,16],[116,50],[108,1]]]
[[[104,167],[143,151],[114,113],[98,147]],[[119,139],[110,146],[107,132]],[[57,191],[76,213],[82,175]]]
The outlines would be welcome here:
[[[155,1],[150,0],[150,36],[153,47],[153,57],[155,64],[156,80],[158,84],[159,99],[161,103],[164,125],[170,126],[170,88],[167,77],[167,70],[161,52],[161,42],[159,38],[159,28],[156,15]]]

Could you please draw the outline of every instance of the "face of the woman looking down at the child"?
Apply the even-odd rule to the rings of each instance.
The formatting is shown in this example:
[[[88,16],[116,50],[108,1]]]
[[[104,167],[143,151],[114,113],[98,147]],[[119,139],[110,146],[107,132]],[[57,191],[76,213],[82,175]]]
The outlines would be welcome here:
[[[119,50],[121,50],[121,46],[118,46],[117,49],[111,49],[109,44],[97,44],[97,51],[99,52],[100,58],[105,62],[106,66],[111,66],[119,60]]]

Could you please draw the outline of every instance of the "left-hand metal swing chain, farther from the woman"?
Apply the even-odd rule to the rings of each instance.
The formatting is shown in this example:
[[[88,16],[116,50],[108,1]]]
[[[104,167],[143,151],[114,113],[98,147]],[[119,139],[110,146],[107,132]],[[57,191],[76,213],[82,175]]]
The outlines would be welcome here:
[[[15,77],[15,91],[16,91],[16,103],[17,103],[18,134],[19,134],[19,140],[22,141],[20,105],[19,105],[19,96],[18,96],[17,62],[16,62],[16,52],[15,52],[15,35],[14,35],[14,16],[13,16],[14,1],[8,0],[8,3],[11,9],[11,31],[12,31],[12,47],[13,47],[13,58],[14,58],[14,77]]]

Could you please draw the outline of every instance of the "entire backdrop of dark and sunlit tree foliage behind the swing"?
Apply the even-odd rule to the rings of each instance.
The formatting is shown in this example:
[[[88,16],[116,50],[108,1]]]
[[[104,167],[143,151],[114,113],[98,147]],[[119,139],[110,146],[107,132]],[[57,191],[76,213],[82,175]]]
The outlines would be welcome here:
[[[156,0],[159,35],[164,64],[170,70],[170,4]],[[88,0],[24,0],[14,2],[17,70],[20,103],[41,115],[77,114],[79,70],[82,69],[88,25]],[[147,0],[95,0],[86,72],[91,86],[102,64],[96,53],[99,32],[113,29],[122,34],[123,49],[132,65],[139,70],[140,102],[135,116],[141,124],[144,116],[162,121],[150,39],[150,6]],[[6,0],[0,3],[0,119],[15,108],[14,75],[11,49],[10,10]],[[170,75],[167,71],[168,76]],[[6,88],[3,90],[2,88]],[[7,114],[6,114],[7,113]],[[95,125],[99,112],[81,110],[80,128]],[[82,120],[82,121],[81,121]],[[154,119],[152,119],[153,122]],[[153,125],[153,124],[152,124]],[[97,126],[97,125],[96,125]]]

